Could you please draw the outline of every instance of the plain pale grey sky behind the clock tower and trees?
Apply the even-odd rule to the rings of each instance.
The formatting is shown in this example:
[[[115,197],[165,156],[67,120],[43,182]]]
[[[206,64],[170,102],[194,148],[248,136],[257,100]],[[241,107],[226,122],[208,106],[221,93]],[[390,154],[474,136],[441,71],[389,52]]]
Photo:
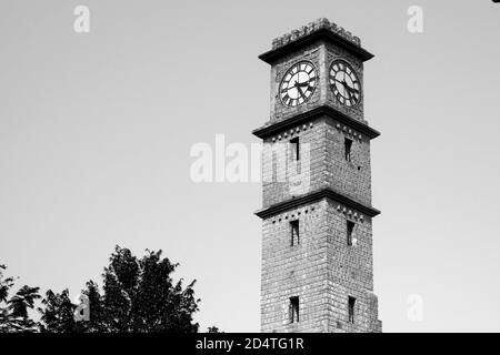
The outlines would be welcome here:
[[[90,32],[73,29],[77,6]],[[407,28],[411,6],[423,32]],[[384,332],[499,332],[500,4],[1,0],[0,263],[77,296],[116,244],[196,278],[201,329],[260,329],[258,182],[196,183],[193,144],[257,143],[271,40],[326,17],[364,65]],[[413,301],[420,317],[409,316]],[[421,302],[421,303],[420,303]]]

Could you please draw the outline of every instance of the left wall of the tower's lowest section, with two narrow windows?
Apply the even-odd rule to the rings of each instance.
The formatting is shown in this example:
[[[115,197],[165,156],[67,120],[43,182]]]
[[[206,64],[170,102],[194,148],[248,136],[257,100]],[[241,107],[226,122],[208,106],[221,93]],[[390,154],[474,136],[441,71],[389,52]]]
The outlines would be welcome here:
[[[262,332],[328,331],[326,214],[323,200],[263,220]],[[300,242],[291,246],[293,220],[299,220]],[[299,323],[289,320],[293,296],[300,301]]]

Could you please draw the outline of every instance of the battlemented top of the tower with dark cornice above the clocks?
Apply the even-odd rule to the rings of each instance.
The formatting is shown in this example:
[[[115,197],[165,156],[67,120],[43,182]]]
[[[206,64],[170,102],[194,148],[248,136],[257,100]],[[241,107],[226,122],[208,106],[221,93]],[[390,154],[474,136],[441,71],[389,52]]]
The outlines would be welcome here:
[[[362,61],[373,58],[373,54],[361,48],[361,41],[358,37],[352,36],[351,32],[346,31],[334,23],[330,23],[327,19],[319,19],[298,30],[276,38],[272,41],[272,49],[259,55],[259,58],[271,64],[277,59],[318,40],[326,40],[343,48]]]

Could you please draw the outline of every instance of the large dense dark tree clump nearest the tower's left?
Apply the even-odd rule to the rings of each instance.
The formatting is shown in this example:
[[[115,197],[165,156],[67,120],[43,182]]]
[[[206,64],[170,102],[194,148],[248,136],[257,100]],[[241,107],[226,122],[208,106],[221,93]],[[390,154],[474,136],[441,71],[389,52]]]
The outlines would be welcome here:
[[[182,287],[182,278],[173,282],[171,274],[178,264],[161,251],[147,251],[137,258],[130,250],[116,246],[102,274],[102,295],[93,281],[82,294],[90,305],[89,321],[74,321],[77,305],[64,290],[48,291],[39,308],[44,332],[111,332],[111,333],[194,333],[198,323],[192,316],[199,310],[194,298],[194,281]]]

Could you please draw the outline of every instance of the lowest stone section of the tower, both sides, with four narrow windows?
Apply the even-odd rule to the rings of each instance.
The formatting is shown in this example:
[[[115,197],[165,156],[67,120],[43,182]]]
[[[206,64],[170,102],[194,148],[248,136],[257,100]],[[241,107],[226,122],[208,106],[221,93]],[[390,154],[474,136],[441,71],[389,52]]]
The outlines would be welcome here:
[[[299,220],[299,244],[290,222]],[[347,221],[356,223],[356,245],[347,245]],[[263,220],[262,332],[378,332],[372,293],[371,219],[334,201]],[[290,322],[290,297],[299,296],[300,322]],[[349,322],[348,297],[356,297]]]

